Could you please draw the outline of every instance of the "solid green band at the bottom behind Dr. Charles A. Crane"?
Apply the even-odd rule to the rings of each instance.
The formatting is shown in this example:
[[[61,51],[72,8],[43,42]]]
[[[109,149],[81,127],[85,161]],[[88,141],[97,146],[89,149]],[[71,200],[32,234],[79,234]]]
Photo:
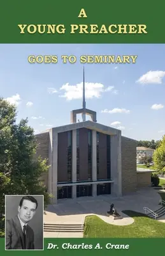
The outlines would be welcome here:
[[[48,250],[48,243],[57,244],[59,249],[51,249]],[[92,244],[92,249],[62,249],[62,244],[64,243],[70,243],[70,244]],[[100,244],[100,248],[102,249],[95,249],[95,246],[97,243]],[[106,244],[129,244],[129,249],[106,249]],[[66,245],[65,245],[66,246]],[[157,253],[164,253],[164,238],[142,238],[142,239],[113,239],[113,238],[57,238],[57,239],[45,239],[45,250],[36,250],[36,251],[24,251],[22,250],[5,250],[4,251],[4,239],[0,239],[0,248],[2,255],[13,255],[13,256],[19,256],[24,253],[24,255],[127,255],[127,256],[140,256],[140,255],[150,255],[155,256]],[[104,253],[104,254],[103,254]]]

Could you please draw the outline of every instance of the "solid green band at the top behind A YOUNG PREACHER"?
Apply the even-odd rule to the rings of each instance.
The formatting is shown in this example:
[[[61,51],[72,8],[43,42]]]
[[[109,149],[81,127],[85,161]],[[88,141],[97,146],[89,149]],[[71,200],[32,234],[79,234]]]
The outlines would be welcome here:
[[[165,1],[6,0],[1,1],[1,44],[157,44],[165,43]],[[78,18],[84,8],[87,18]],[[18,24],[64,24],[64,34],[20,34]],[[71,24],[145,24],[147,34],[70,33]]]

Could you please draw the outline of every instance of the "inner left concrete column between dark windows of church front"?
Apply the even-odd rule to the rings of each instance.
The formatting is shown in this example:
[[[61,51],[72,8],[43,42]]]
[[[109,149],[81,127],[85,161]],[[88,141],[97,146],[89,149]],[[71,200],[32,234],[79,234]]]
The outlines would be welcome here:
[[[76,129],[72,131],[72,182],[76,182]],[[76,198],[76,185],[72,186],[72,198]]]

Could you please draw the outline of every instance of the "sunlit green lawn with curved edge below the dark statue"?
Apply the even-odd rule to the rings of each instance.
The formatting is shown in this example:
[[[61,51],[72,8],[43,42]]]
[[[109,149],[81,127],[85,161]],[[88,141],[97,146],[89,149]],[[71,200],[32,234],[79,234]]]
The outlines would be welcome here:
[[[123,212],[134,218],[133,224],[111,225],[97,216],[87,216],[83,237],[165,237],[165,223],[152,220],[140,212]]]

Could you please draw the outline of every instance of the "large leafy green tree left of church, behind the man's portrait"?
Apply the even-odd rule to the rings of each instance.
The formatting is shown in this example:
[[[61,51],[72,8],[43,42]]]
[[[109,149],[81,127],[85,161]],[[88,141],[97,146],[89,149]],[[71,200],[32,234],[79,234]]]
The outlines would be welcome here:
[[[34,160],[34,131],[27,118],[18,124],[16,118],[16,107],[0,98],[0,228],[4,227],[4,195],[44,195],[45,207],[52,197],[39,180],[48,172],[47,159]]]

